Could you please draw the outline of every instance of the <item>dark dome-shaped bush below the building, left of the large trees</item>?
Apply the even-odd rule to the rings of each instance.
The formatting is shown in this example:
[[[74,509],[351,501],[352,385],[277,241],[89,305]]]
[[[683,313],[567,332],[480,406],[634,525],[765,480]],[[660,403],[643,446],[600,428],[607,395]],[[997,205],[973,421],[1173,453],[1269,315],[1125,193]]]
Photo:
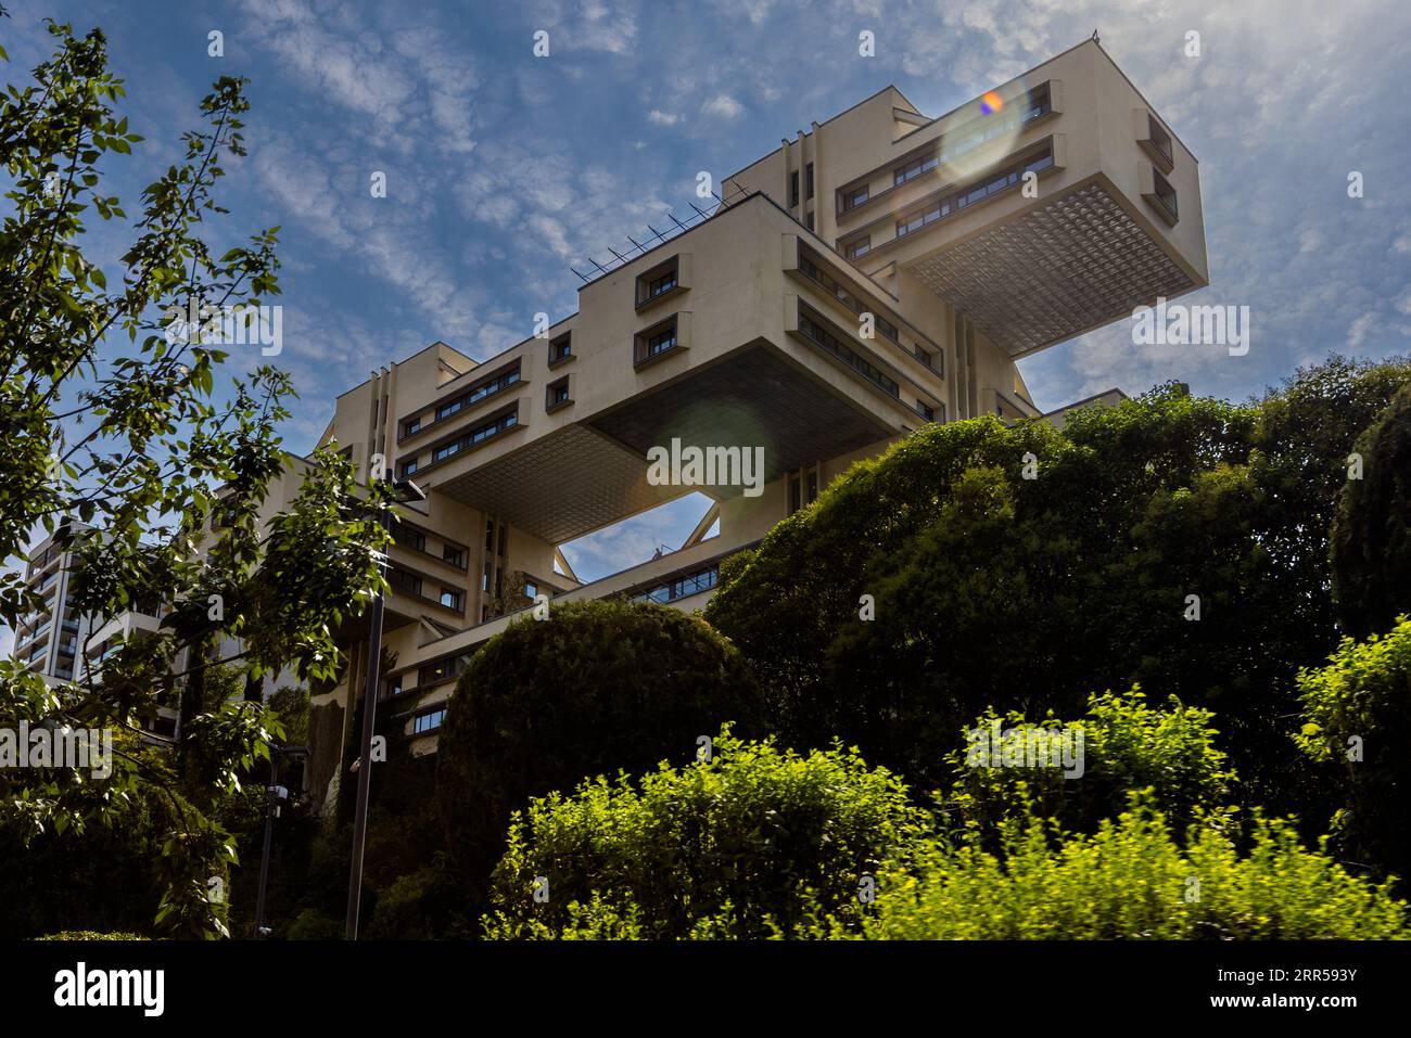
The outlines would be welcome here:
[[[511,623],[461,676],[436,755],[447,846],[473,900],[531,797],[689,760],[722,722],[759,735],[766,715],[734,646],[677,609],[573,602]]]

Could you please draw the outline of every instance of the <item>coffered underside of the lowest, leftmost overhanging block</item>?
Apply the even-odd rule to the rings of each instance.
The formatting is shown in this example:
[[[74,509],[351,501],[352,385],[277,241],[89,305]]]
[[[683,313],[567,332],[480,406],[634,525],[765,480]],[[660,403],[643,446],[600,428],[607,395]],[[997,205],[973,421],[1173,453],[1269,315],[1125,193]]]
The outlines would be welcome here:
[[[581,423],[531,440],[436,489],[550,544],[689,492],[649,485],[645,454],[638,457]]]

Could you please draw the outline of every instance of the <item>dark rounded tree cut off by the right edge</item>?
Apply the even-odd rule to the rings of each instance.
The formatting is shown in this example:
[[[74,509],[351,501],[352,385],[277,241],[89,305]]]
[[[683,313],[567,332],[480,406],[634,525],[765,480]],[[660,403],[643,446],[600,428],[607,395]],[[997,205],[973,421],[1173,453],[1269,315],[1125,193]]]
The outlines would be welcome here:
[[[1332,585],[1348,633],[1411,612],[1411,385],[1357,437],[1332,526]]]

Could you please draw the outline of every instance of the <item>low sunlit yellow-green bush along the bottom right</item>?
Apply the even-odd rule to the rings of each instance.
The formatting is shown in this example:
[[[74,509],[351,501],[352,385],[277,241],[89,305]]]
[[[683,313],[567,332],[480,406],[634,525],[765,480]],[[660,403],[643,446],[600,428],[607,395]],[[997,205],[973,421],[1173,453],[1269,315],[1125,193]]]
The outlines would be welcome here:
[[[1407,938],[1405,903],[1305,850],[1291,825],[1257,819],[1246,856],[1230,832],[1185,848],[1136,802],[1094,835],[1057,842],[1016,828],[1007,852],[927,842],[910,870],[882,877],[873,939],[1376,939]],[[847,927],[816,928],[841,936]]]

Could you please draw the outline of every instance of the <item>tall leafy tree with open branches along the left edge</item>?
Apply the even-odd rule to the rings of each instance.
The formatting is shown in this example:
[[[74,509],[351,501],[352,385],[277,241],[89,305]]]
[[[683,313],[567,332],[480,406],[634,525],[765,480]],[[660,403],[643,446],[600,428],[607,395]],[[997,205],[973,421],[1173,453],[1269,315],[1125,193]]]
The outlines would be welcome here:
[[[358,488],[323,450],[293,503],[261,515],[288,465],[275,427],[289,415],[289,379],[260,367],[223,399],[214,392],[227,354],[214,348],[212,315],[248,316],[278,293],[277,227],[224,252],[210,240],[224,233],[223,157],[246,154],[244,80],[216,82],[200,104],[205,127],[183,135],[185,158],[143,192],[109,289],[85,254],[86,220],[127,221],[103,173],[141,137],[113,110],[124,90],[103,34],[78,38],[54,23],[49,34],[56,49],[34,83],[0,94],[0,164],[13,185],[0,227],[0,556],[23,558],[42,527],[79,558],[78,608],[169,608],[159,632],[78,683],[51,688],[0,661],[0,722],[135,733],[179,694],[183,753],[172,762],[120,740],[103,780],[59,769],[7,777],[0,824],[24,841],[82,832],[138,790],[162,795],[176,825],[158,856],[157,922],[219,934],[224,908],[207,880],[233,862],[233,843],[206,808],[238,788],[279,731],[261,704],[203,708],[205,677],[227,664],[254,678],[285,666],[333,674],[333,628],[380,587],[385,535],[370,512],[388,495]],[[38,606],[17,574],[0,574],[0,618],[17,625]],[[212,659],[230,639],[243,649]]]

